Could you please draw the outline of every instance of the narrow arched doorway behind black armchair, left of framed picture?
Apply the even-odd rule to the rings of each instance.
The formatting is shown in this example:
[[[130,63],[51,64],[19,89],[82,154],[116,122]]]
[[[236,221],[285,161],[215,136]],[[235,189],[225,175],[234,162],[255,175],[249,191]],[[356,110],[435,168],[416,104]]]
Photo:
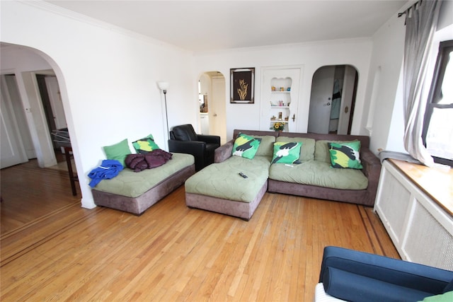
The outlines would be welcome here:
[[[219,71],[206,71],[198,81],[200,132],[218,135],[226,142],[225,77]]]

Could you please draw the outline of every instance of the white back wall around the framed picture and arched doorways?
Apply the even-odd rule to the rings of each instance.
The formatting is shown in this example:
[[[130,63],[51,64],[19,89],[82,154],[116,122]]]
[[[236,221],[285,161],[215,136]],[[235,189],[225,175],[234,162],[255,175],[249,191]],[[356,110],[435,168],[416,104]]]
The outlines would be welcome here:
[[[234,129],[260,128],[260,91],[261,70],[266,66],[303,66],[297,132],[306,132],[309,116],[311,80],[316,69],[326,65],[350,64],[359,73],[355,116],[352,124],[353,134],[363,134],[360,129],[362,110],[366,103],[365,90],[369,74],[369,58],[372,52],[370,39],[335,40],[298,45],[278,45],[221,52],[195,54],[195,74],[203,71],[218,70],[226,78],[226,136],[231,139]],[[255,67],[255,103],[230,104],[229,69]],[[263,100],[263,105],[268,105]],[[263,117],[265,118],[265,117]]]

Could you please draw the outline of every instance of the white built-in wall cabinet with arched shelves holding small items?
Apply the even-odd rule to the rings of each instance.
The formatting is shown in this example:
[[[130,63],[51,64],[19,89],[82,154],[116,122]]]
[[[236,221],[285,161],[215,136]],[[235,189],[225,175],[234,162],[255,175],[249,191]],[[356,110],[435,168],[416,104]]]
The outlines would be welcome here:
[[[301,68],[263,68],[261,130],[282,124],[284,132],[297,132]]]

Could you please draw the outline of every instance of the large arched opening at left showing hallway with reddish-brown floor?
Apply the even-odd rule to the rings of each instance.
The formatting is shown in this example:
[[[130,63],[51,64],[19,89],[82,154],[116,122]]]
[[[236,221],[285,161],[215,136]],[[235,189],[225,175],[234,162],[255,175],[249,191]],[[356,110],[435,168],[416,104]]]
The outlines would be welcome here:
[[[15,146],[13,148],[11,148],[11,146],[6,146],[6,148],[10,148],[13,153],[24,153],[25,156],[21,159],[20,163],[23,163],[26,167],[18,169],[22,174],[20,177],[16,178],[23,179],[23,184],[18,184],[18,182],[13,181],[7,182],[6,178],[4,182],[2,181],[3,202],[1,203],[1,233],[4,235],[4,230],[7,232],[8,230],[11,231],[11,229],[21,228],[27,223],[38,221],[43,216],[50,217],[52,214],[57,215],[62,207],[69,207],[71,204],[80,204],[81,194],[73,196],[70,188],[66,187],[67,185],[69,187],[69,183],[66,182],[67,172],[60,172],[56,168],[39,169],[55,166],[57,163],[55,150],[57,149],[55,149],[55,146],[53,145],[50,127],[47,124],[39,87],[40,83],[38,82],[42,81],[41,85],[45,86],[47,94],[50,93],[50,95],[48,95],[50,98],[48,100],[48,106],[52,107],[52,114],[50,114],[50,116],[57,119],[55,120],[55,127],[62,127],[66,124],[65,117],[69,116],[69,112],[66,112],[66,114],[62,112],[64,111],[62,108],[62,100],[64,100],[65,95],[67,94],[62,93],[60,96],[59,93],[59,88],[61,88],[60,84],[63,82],[62,76],[58,76],[57,74],[61,75],[61,71],[59,71],[58,66],[55,62],[52,62],[50,57],[39,50],[22,45],[11,45],[6,43],[0,43],[0,45],[2,62],[2,69],[0,72],[2,88],[1,103],[3,106],[5,100],[12,109],[2,110],[1,119],[2,122],[4,120],[13,120],[14,127],[2,129],[4,131],[2,134],[6,134],[6,132],[8,132],[8,134],[5,136],[2,135],[1,139],[2,143],[4,137],[10,138],[11,141],[19,142],[19,144],[16,145],[20,146]],[[38,79],[39,77],[41,79]],[[50,81],[46,81],[45,78],[50,79]],[[58,105],[60,107],[55,107],[55,102],[57,101],[59,102]],[[52,104],[52,102],[54,102],[54,104]],[[3,147],[2,144],[2,148]],[[22,149],[22,151],[20,151],[20,149]],[[4,153],[2,152],[1,155],[4,156]],[[28,163],[25,163],[27,161]],[[30,164],[35,166],[30,169]],[[48,182],[49,179],[43,178],[43,175],[45,177],[48,174],[46,175],[45,173],[37,172],[38,170],[36,170],[36,168],[43,171],[53,171],[50,173],[50,185]],[[1,170],[2,176],[5,173],[4,171],[5,170],[3,169]],[[5,175],[11,175],[11,173]],[[59,178],[59,175],[62,175],[61,178]],[[8,178],[8,180],[11,179],[13,178]],[[46,184],[39,186],[38,190],[34,190],[31,188],[33,186],[27,185],[27,182],[41,184],[40,180],[44,179]],[[63,186],[62,183],[65,185]],[[22,197],[21,189],[23,189],[23,185],[27,188],[28,198]],[[4,190],[5,187],[7,187],[8,190]],[[67,188],[67,190],[62,190],[62,187]],[[18,193],[16,194],[16,192]],[[33,196],[33,198],[30,198],[30,196]],[[59,197],[51,198],[54,196]],[[36,206],[37,204],[38,206]],[[4,219],[6,215],[8,216],[8,219]],[[20,217],[20,219],[17,217]],[[3,228],[5,221],[10,221],[7,228]],[[11,221],[14,222],[11,223]]]

